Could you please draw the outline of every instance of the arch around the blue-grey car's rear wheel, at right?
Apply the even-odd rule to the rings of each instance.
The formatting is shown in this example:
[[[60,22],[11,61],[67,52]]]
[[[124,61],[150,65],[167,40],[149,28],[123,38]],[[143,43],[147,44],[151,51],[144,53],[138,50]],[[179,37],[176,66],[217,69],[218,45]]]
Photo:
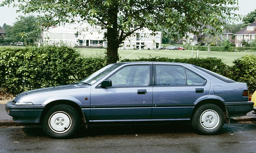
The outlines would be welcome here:
[[[202,106],[202,105],[204,105],[204,104],[214,104],[214,105],[220,107],[220,109],[221,109],[221,110],[223,111],[223,113],[224,113],[225,122],[226,122],[226,123],[229,123],[229,122],[230,122],[230,121],[229,121],[229,114],[228,114],[228,109],[227,109],[227,107],[225,106],[225,104],[224,104],[222,101],[220,101],[220,100],[218,100],[218,99],[205,99],[205,100],[202,100],[202,101],[196,103],[195,108],[193,109],[193,112],[192,112],[192,114],[191,114],[191,120],[192,120],[192,117],[193,117],[193,114],[195,113],[195,111],[196,111],[200,106]]]

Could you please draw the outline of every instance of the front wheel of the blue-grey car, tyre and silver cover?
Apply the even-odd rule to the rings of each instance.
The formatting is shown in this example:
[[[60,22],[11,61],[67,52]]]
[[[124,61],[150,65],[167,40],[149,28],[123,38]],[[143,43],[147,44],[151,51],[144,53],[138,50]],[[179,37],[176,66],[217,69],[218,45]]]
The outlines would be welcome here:
[[[68,105],[56,105],[44,117],[43,130],[51,138],[65,139],[72,136],[79,126],[76,110]]]

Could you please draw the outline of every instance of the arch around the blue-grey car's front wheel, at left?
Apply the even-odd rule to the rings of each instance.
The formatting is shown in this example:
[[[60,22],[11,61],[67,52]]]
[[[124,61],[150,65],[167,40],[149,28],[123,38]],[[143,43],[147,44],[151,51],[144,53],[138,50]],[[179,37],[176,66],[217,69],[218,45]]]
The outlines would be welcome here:
[[[48,103],[45,107],[44,107],[44,110],[41,114],[41,117],[40,117],[40,123],[43,123],[44,121],[44,116],[46,115],[47,111],[53,107],[53,106],[56,106],[56,105],[61,105],[61,104],[64,104],[64,105],[68,105],[68,106],[71,106],[73,107],[76,112],[78,113],[79,115],[79,118],[81,118],[81,121],[83,121],[84,125],[87,125],[86,123],[86,116],[85,114],[83,113],[81,107],[79,105],[77,105],[75,102],[72,102],[72,101],[69,101],[69,100],[56,100],[56,101],[52,101],[50,103]],[[87,127],[87,126],[86,126]]]

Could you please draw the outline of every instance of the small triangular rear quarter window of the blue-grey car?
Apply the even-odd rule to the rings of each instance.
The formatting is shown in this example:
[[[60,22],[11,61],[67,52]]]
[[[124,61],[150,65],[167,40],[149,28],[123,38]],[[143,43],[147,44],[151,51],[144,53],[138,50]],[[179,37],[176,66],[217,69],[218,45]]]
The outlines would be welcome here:
[[[203,85],[206,80],[196,73],[186,69],[186,77],[187,77],[187,84],[188,85]]]

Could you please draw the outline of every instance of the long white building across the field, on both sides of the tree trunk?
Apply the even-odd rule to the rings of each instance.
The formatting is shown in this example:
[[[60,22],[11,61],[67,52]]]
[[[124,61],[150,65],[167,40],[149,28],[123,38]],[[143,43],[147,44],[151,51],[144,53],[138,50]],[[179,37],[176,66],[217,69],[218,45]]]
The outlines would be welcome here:
[[[70,46],[102,46],[107,47],[104,40],[106,29],[89,24],[77,25],[71,28],[55,27],[43,31],[43,44],[63,43]],[[135,34],[124,40],[120,49],[159,49],[162,33],[153,33],[148,29],[137,30]]]

